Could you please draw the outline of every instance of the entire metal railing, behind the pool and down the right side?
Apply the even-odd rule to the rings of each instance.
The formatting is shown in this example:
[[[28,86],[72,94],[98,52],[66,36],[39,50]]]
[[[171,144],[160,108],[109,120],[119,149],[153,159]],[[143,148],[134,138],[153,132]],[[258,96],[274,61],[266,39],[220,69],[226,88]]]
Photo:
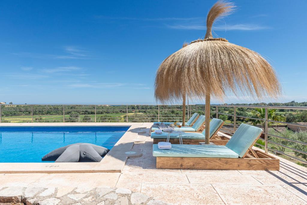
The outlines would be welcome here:
[[[186,107],[186,119],[197,112],[204,114],[204,104],[189,104]],[[231,108],[232,112],[222,112],[225,108]],[[239,108],[264,108],[264,118],[256,118],[253,116],[238,115]],[[251,120],[259,120],[263,122],[263,140],[264,145],[256,143],[264,148],[265,152],[274,152],[285,156],[290,156],[285,152],[277,150],[273,146],[282,147],[293,152],[306,154],[307,152],[296,148],[280,144],[274,139],[289,141],[291,143],[302,144],[307,146],[307,143],[296,139],[289,139],[283,136],[272,134],[269,132],[269,123],[277,123],[284,125],[295,125],[301,128],[307,128],[305,124],[297,124],[291,122],[280,122],[268,118],[268,110],[283,109],[283,110],[307,110],[307,107],[295,106],[253,106],[253,105],[211,105],[212,117],[219,118],[225,115],[231,118],[231,123],[225,122],[223,128],[228,128],[231,132],[223,130],[226,134],[232,135],[236,128],[239,127],[240,119],[245,120],[245,123],[250,123]],[[0,105],[0,123],[4,122],[155,122],[155,121],[181,121],[182,119],[182,104],[160,105],[160,104],[18,104],[18,105]],[[306,161],[294,156],[290,156],[300,162]]]

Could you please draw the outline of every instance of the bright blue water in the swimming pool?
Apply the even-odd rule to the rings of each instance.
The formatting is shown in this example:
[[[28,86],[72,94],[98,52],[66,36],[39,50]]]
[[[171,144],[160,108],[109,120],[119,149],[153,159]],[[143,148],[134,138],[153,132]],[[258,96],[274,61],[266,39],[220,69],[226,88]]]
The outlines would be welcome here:
[[[0,127],[0,162],[42,162],[48,152],[78,142],[111,149],[128,128]]]

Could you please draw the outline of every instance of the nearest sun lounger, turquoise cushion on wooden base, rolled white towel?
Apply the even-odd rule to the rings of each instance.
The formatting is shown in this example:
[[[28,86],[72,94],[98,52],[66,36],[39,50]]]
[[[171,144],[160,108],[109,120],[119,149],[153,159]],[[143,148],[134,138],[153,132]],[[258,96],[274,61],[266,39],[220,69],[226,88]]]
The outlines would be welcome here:
[[[153,144],[153,156],[163,169],[279,170],[279,159],[252,149],[261,133],[242,123],[225,146],[173,144],[160,150]]]

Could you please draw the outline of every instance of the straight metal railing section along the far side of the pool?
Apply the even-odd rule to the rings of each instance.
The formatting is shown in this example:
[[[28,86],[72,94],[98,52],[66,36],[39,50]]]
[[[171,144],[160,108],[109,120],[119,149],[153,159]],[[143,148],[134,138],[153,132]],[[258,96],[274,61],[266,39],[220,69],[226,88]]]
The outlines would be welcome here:
[[[187,105],[187,107],[190,107]],[[182,105],[1,104],[3,122],[155,122],[179,121]],[[189,110],[186,111],[190,116]]]

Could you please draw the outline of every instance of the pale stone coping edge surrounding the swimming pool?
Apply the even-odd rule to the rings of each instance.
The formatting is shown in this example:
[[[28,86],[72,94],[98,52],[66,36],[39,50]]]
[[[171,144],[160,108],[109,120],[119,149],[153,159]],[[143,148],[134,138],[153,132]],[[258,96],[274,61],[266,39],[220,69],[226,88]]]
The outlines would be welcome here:
[[[39,124],[39,125],[37,125]],[[1,123],[0,126],[130,126],[108,154],[98,163],[0,163],[0,173],[120,173],[128,157],[141,153],[125,154],[131,151],[134,140],[143,123]]]

